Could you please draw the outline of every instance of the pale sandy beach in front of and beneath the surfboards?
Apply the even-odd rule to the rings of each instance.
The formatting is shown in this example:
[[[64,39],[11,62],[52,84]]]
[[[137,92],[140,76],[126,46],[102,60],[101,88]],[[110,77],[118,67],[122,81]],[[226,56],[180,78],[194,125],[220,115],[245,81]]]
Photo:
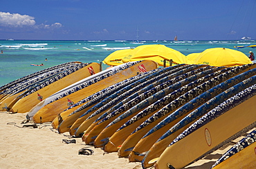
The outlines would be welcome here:
[[[51,123],[38,125],[37,128],[22,128],[33,124],[21,124],[26,114],[0,112],[0,118],[0,168],[142,168],[139,162],[129,163],[127,158],[118,158],[117,152],[106,153],[101,148],[85,145],[81,138],[69,137],[68,132],[58,134]],[[211,168],[242,137],[186,168]],[[75,139],[76,143],[67,144],[62,139]],[[93,150],[93,155],[78,155],[82,148]]]

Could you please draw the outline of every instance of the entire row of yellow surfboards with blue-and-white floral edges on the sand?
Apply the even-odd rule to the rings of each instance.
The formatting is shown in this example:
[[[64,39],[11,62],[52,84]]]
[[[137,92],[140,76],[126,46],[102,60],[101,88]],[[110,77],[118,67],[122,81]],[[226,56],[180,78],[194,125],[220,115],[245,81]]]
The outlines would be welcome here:
[[[65,71],[81,68],[62,78],[45,70],[2,86],[1,105],[143,168],[184,168],[256,127],[256,64],[158,68],[135,61],[103,71],[98,63],[66,64],[75,66]],[[247,151],[233,155],[241,159],[243,152],[247,166],[256,166],[252,133]],[[221,168],[241,165],[231,161]]]

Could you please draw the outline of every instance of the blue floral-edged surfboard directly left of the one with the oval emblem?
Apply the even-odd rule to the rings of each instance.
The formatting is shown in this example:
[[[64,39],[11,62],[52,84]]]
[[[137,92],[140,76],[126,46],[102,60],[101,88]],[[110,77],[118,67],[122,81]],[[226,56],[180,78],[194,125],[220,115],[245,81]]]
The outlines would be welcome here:
[[[210,96],[212,96],[212,99],[210,99],[209,101],[206,101],[199,108],[196,108],[195,110],[193,110],[189,115],[184,117],[181,121],[176,123],[174,126],[170,126],[169,130],[167,130],[163,134],[163,136],[160,139],[158,139],[158,141],[156,141],[156,143],[154,143],[152,148],[149,149],[149,151],[147,152],[147,154],[145,155],[145,157],[143,159],[143,162],[142,162],[143,166],[145,166],[145,167],[152,166],[152,164],[149,164],[148,162],[151,161],[152,159],[155,159],[156,157],[159,157],[163,153],[165,148],[167,148],[167,146],[176,137],[178,137],[186,128],[188,128],[190,125],[192,125],[192,123],[194,123],[194,121],[201,118],[202,115],[204,115],[208,111],[212,110],[212,108],[215,108],[216,106],[221,104],[226,99],[230,99],[230,97],[233,97],[241,90],[245,90],[246,88],[248,88],[248,86],[251,86],[253,83],[255,83],[256,76],[249,77],[248,79],[246,78],[243,81],[241,81],[241,78],[250,76],[251,74],[254,74],[254,73],[255,73],[255,71],[248,71],[247,75],[241,74],[239,76],[233,77],[232,79],[229,79],[228,81],[225,81],[225,83],[222,83],[222,85],[221,85],[222,89],[224,89],[225,88],[224,86],[230,82],[231,82],[230,85],[232,84],[233,86],[231,88],[228,88],[227,90],[221,92],[217,96],[210,95]],[[232,83],[233,81],[241,81],[241,82],[240,83]],[[225,84],[225,85],[223,85],[223,84]],[[214,88],[219,89],[219,86],[215,86]],[[214,88],[212,88],[212,89],[214,89]],[[208,93],[211,93],[212,89],[211,89],[211,91],[209,90]],[[202,94],[200,97],[203,97],[203,95],[205,95],[205,93]],[[190,103],[192,103],[192,101],[190,101]],[[159,123],[158,126],[161,126],[161,124]]]

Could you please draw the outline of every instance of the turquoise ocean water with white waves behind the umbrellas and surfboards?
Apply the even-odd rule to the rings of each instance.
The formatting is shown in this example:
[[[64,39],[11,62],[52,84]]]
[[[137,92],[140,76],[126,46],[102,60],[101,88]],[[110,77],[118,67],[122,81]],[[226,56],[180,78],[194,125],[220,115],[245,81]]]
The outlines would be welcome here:
[[[111,52],[125,48],[136,48],[140,45],[163,44],[185,55],[193,52],[203,52],[208,48],[231,48],[248,52],[253,48],[236,49],[234,46],[255,44],[251,41],[26,41],[26,40],[0,40],[0,86],[10,81],[19,79],[33,72],[56,66],[69,61],[81,61],[84,63],[98,62],[104,60]],[[48,61],[44,61],[45,59]],[[44,66],[30,66],[30,64],[41,64]],[[102,65],[102,68],[107,68]]]

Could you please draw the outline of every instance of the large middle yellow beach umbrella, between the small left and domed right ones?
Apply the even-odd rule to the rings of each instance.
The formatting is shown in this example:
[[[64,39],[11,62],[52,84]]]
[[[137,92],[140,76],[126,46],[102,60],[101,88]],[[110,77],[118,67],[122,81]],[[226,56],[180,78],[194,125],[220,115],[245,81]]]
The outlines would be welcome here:
[[[123,62],[152,60],[156,61],[159,66],[163,66],[164,59],[172,59],[172,63],[188,63],[186,57],[181,52],[164,45],[143,45],[134,48],[134,50],[122,59]],[[168,62],[167,62],[168,64]]]

